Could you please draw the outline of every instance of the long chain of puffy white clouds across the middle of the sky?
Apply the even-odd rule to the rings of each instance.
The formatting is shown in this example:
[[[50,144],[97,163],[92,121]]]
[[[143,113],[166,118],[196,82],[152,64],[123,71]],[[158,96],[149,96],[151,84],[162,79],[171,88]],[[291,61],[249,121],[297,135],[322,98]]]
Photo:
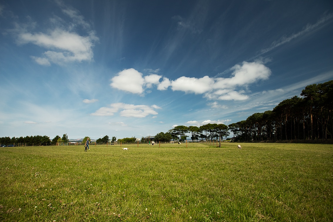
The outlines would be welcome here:
[[[135,94],[143,94],[145,87],[157,86],[160,91],[171,87],[172,91],[202,94],[208,100],[246,100],[246,87],[260,80],[267,80],[271,75],[268,67],[261,62],[243,62],[233,66],[229,78],[214,78],[204,76],[202,78],[179,77],[169,80],[157,74],[143,77],[143,74],[135,69],[125,69],[111,79],[112,87]]]

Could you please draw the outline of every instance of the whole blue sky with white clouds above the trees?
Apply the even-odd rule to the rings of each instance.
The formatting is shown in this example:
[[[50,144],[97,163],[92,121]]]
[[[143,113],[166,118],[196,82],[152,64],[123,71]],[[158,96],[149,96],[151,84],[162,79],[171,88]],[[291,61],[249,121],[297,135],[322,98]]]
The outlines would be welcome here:
[[[328,0],[0,0],[0,137],[235,123],[333,80],[332,40]]]

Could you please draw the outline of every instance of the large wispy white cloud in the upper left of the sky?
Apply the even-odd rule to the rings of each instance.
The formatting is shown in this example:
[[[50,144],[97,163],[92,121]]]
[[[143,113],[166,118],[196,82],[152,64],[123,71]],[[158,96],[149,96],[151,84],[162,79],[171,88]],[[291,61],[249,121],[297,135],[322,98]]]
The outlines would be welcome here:
[[[95,31],[90,30],[90,25],[79,14],[79,11],[72,9],[62,1],[56,1],[62,8],[62,12],[68,15],[72,21],[65,21],[53,15],[49,21],[55,28],[46,32],[33,31],[40,27],[36,22],[28,17],[26,24],[15,23],[15,28],[11,30],[16,35],[17,44],[34,44],[46,51],[41,56],[31,56],[36,63],[43,66],[50,66],[51,63],[65,65],[72,62],[83,62],[93,60],[93,47],[99,38]],[[74,29],[83,27],[86,35],[80,35]]]

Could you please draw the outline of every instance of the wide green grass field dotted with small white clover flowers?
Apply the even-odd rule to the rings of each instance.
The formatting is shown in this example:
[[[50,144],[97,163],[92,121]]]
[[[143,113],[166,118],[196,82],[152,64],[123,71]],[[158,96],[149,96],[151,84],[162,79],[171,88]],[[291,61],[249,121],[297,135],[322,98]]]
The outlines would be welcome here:
[[[332,221],[333,145],[0,148],[1,221]]]

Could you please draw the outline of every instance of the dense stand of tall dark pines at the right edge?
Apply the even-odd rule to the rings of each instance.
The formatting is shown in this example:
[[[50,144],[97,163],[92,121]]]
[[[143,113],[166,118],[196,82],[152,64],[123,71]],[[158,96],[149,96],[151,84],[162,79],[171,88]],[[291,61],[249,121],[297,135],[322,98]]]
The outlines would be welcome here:
[[[332,140],[333,80],[308,85],[300,95],[232,123],[229,130],[241,141]]]

